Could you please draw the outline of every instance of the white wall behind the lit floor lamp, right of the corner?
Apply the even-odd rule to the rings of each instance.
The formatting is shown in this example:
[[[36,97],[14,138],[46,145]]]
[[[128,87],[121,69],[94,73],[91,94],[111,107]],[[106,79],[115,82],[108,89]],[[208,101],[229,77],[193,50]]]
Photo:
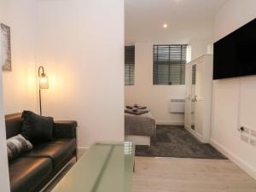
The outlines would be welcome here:
[[[79,146],[124,139],[123,0],[38,1],[43,114],[79,123]]]

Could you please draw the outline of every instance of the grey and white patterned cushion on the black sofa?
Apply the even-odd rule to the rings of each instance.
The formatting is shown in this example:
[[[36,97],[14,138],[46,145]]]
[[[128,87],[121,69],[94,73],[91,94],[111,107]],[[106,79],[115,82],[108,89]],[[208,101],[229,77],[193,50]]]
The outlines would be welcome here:
[[[32,150],[32,143],[26,140],[26,138],[22,137],[20,134],[15,137],[10,137],[7,140],[7,152],[8,152],[8,160],[14,160],[20,154],[23,154],[26,151]]]

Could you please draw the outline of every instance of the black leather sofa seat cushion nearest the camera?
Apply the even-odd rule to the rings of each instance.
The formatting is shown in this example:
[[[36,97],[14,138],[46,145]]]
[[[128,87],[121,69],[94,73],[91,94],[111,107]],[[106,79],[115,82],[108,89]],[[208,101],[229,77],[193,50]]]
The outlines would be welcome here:
[[[9,162],[12,192],[30,192],[36,189],[53,170],[49,158],[20,157]]]

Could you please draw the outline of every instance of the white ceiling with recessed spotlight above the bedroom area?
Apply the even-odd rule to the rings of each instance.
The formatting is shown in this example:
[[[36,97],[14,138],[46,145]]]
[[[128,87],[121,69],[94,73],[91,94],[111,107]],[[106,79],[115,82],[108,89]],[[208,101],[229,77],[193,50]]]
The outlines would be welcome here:
[[[193,28],[213,26],[228,0],[125,0],[125,42],[166,41]],[[166,29],[163,24],[168,24]],[[213,29],[212,29],[213,30]]]

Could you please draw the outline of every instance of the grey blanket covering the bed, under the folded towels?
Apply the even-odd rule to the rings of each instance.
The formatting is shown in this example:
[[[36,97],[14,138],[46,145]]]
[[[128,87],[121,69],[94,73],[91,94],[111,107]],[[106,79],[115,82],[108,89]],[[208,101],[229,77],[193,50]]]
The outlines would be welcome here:
[[[154,137],[155,131],[155,119],[151,113],[125,113],[125,135]]]

